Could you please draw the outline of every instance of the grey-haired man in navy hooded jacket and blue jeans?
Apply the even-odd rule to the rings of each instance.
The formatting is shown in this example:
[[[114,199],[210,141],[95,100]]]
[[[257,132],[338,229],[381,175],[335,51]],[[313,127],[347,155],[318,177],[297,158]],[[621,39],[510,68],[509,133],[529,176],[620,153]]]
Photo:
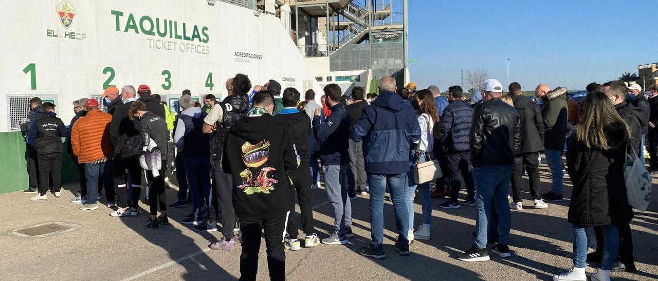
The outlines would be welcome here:
[[[384,240],[384,192],[388,185],[395,209],[397,242],[401,255],[409,255],[407,232],[409,213],[405,204],[408,186],[411,142],[420,141],[420,126],[409,103],[395,94],[395,79],[390,76],[379,81],[379,97],[363,110],[352,129],[355,142],[363,140],[363,154],[370,183],[370,228],[372,243],[359,250],[361,255],[383,259],[386,257]],[[333,114],[333,113],[332,113]]]

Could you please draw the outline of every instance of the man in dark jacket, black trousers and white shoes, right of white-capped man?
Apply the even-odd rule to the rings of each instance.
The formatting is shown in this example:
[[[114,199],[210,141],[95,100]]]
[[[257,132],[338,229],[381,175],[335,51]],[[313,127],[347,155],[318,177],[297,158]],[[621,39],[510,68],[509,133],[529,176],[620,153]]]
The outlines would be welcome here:
[[[523,186],[523,167],[528,171],[530,195],[535,209],[548,207],[542,200],[539,177],[539,152],[544,151],[544,119],[542,110],[532,102],[530,97],[523,95],[521,85],[517,82],[509,85],[514,108],[519,112],[519,128],[521,145],[515,152],[514,171],[512,173],[512,209],[522,209],[521,189]]]

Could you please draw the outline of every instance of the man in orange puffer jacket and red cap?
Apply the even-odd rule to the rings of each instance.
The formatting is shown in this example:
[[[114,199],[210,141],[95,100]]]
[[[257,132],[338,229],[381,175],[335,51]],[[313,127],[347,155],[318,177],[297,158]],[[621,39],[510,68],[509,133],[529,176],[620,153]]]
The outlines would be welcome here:
[[[85,104],[87,116],[78,119],[71,132],[73,154],[78,156],[78,163],[84,163],[87,177],[87,203],[82,210],[98,209],[98,179],[111,177],[111,165],[105,163],[112,157],[114,147],[110,139],[110,122],[112,116],[98,109],[98,101],[91,98]],[[105,181],[103,181],[105,182]],[[114,186],[105,186],[105,190],[114,190]],[[112,192],[113,193],[113,192]],[[108,207],[114,206],[113,194],[107,194]]]

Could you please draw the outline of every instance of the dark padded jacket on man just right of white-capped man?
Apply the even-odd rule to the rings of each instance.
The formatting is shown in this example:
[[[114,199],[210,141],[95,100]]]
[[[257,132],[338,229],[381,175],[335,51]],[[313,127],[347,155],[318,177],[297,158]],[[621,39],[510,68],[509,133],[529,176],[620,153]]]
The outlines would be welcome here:
[[[544,151],[544,119],[539,106],[529,97],[513,96],[514,108],[519,112],[521,146],[516,154]]]

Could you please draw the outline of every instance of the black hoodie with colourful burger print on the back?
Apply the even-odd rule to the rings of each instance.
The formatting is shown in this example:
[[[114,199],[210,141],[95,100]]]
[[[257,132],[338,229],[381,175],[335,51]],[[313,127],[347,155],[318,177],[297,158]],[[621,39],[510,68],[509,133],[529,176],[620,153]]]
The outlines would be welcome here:
[[[240,219],[270,219],[290,211],[294,194],[288,173],[297,168],[297,155],[286,125],[270,114],[243,117],[228,131],[222,155]]]

